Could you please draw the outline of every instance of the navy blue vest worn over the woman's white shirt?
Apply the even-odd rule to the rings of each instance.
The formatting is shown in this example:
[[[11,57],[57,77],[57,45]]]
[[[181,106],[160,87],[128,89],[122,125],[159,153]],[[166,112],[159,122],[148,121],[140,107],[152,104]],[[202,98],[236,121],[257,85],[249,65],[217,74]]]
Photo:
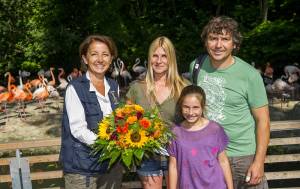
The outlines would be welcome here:
[[[111,108],[114,110],[116,108],[114,102],[118,100],[116,99],[118,96],[115,96],[118,91],[118,84],[109,78],[107,78],[107,81],[110,86],[108,96],[111,102]],[[75,88],[82,103],[88,129],[96,133],[98,123],[103,118],[103,113],[98,103],[96,93],[89,91],[90,81],[86,78],[86,75],[84,75],[76,80],[72,80],[70,84]],[[105,173],[107,171],[108,161],[99,165],[97,162],[99,154],[93,155],[91,154],[91,150],[87,144],[80,142],[71,134],[69,118],[66,112],[66,106],[64,105],[60,151],[60,162],[62,163],[64,173],[77,173],[87,176]]]

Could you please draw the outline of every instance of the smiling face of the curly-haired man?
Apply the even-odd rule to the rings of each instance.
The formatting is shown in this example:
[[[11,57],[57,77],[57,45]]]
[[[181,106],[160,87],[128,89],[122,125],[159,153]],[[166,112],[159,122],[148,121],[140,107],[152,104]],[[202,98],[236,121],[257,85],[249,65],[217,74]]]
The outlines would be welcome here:
[[[232,35],[225,30],[222,34],[209,33],[206,41],[207,52],[214,64],[228,63],[235,48]]]

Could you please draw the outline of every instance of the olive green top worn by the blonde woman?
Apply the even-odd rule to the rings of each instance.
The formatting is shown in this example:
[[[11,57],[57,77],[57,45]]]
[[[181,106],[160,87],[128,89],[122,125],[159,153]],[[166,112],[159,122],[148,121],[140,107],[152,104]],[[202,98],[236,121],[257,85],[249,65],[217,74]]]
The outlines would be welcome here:
[[[126,97],[133,103],[141,105],[145,110],[150,110],[157,106],[161,117],[167,123],[174,120],[176,99],[169,97],[159,104],[155,101],[154,97],[151,98],[146,95],[146,84],[142,81],[133,82],[129,87]]]

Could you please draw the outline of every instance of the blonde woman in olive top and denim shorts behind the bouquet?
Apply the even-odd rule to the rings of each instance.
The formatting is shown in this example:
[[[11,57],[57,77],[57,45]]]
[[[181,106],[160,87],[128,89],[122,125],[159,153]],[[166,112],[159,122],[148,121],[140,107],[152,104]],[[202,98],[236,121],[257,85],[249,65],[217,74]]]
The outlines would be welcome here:
[[[149,47],[146,78],[134,82],[126,97],[145,109],[158,107],[166,123],[174,120],[176,101],[181,90],[189,83],[178,74],[175,48],[165,36],[156,38]],[[137,173],[143,188],[161,189],[163,174],[167,170],[165,157],[156,155],[143,160]]]

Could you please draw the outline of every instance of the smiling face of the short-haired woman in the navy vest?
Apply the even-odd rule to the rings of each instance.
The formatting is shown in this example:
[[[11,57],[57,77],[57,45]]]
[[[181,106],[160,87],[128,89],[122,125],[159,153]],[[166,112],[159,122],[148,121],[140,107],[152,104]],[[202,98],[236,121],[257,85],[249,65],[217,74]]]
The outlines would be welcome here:
[[[100,41],[92,42],[82,58],[88,66],[88,71],[98,76],[105,75],[113,59],[108,46]]]

